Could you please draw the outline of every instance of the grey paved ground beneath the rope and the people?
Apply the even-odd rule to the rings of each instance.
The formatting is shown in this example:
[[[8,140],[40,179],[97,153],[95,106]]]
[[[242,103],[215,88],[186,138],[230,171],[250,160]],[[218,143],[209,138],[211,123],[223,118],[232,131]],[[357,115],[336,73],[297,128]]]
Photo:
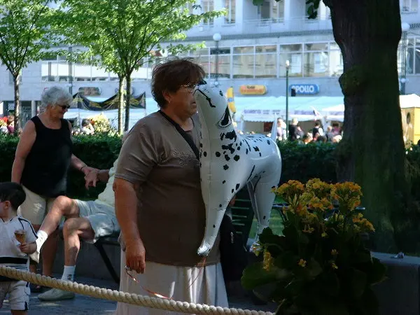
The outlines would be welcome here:
[[[118,290],[118,286],[112,281],[88,278],[78,278],[77,281],[78,283],[85,283],[91,286]],[[76,298],[73,300],[58,302],[41,302],[38,300],[37,296],[37,293],[33,293],[31,295],[31,301],[29,304],[30,315],[111,315],[115,314],[117,305],[117,303],[113,301],[95,299],[84,295],[76,295]],[[250,300],[238,296],[230,298],[230,307],[275,311],[274,304],[256,306]],[[10,308],[7,300],[4,302],[3,308],[0,309],[0,315],[3,314],[10,314]]]

